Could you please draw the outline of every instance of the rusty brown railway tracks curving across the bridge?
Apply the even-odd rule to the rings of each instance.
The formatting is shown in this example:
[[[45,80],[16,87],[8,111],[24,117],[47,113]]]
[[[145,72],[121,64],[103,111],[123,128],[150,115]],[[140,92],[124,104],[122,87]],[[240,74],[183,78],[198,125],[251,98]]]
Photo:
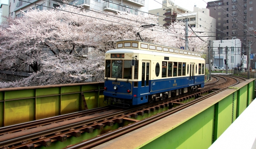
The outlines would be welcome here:
[[[102,131],[100,136],[93,136],[90,140],[67,148],[93,147],[98,145],[99,142],[106,142],[109,139],[143,127],[239,83],[239,80],[235,77],[220,75],[213,77],[217,78],[216,81],[206,84],[205,88],[198,89],[197,92],[192,94],[176,96],[175,98],[132,109],[104,107],[2,127],[0,128],[0,147],[13,149],[20,147],[35,148],[41,145],[48,147],[52,142],[65,142],[71,136],[80,137],[85,133],[93,133],[93,130],[97,129]],[[229,81],[233,83],[223,89],[216,88],[218,85],[223,86],[228,79],[235,81]],[[140,118],[141,120],[139,120]],[[124,121],[128,125],[124,125]],[[106,125],[109,127],[115,125],[117,129],[106,131],[104,130]]]

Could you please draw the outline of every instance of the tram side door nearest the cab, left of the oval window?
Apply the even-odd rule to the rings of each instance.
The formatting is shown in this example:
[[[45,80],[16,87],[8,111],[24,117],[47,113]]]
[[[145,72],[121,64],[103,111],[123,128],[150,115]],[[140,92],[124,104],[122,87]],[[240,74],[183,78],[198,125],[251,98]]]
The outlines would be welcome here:
[[[150,93],[150,61],[143,60],[141,69],[141,94],[147,94]]]

